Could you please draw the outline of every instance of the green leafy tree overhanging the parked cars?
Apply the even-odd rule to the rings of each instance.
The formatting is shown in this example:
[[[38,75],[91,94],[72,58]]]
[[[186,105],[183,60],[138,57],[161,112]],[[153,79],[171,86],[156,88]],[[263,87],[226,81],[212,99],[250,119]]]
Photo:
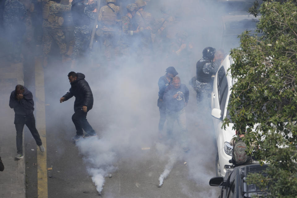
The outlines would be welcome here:
[[[230,68],[235,80],[229,111],[234,128],[247,126],[245,141],[268,161],[266,176],[248,178],[268,197],[297,197],[297,7],[295,2],[260,6],[258,35],[243,32],[240,48],[232,49]],[[229,120],[224,119],[223,126]],[[248,146],[252,153],[252,146]]]

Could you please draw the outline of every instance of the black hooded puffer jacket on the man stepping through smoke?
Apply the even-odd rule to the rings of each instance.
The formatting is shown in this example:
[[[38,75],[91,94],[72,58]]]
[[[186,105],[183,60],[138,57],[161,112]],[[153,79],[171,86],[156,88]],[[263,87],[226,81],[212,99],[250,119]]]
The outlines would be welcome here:
[[[65,101],[67,101],[72,96],[75,97],[74,111],[83,108],[83,106],[87,106],[88,110],[91,110],[94,102],[91,88],[88,82],[84,80],[84,74],[76,74],[77,79],[74,82],[70,83],[71,88],[63,97],[65,98]]]

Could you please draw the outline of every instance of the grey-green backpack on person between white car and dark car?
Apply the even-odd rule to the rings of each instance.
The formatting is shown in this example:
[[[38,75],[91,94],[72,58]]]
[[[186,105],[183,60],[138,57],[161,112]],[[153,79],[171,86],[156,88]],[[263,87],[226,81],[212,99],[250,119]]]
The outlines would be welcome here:
[[[246,149],[247,145],[242,141],[241,138],[237,138],[232,152],[232,158],[236,164],[241,165],[249,160],[248,155],[245,152]]]

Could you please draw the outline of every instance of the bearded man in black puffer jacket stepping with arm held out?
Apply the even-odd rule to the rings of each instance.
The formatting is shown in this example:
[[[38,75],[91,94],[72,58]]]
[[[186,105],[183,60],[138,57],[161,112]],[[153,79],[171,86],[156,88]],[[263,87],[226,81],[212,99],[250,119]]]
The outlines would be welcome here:
[[[72,139],[77,141],[82,137],[97,136],[94,129],[88,123],[87,113],[93,107],[93,93],[86,80],[84,80],[84,74],[75,73],[74,71],[69,72],[68,79],[71,84],[69,91],[60,98],[60,103],[67,101],[72,96],[75,97],[74,101],[74,114],[72,115],[72,121],[75,125],[76,136]],[[84,131],[87,133],[84,136]]]

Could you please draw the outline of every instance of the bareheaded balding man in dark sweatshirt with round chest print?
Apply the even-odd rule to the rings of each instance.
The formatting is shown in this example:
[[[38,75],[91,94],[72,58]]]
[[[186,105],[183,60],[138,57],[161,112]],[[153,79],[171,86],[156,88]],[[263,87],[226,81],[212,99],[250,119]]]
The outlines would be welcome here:
[[[189,100],[189,89],[185,84],[181,84],[180,78],[175,76],[172,84],[168,85],[163,96],[166,103],[167,135],[172,135],[175,120],[177,120],[181,130],[181,146],[184,151],[189,150],[187,145],[187,120],[185,106]]]

